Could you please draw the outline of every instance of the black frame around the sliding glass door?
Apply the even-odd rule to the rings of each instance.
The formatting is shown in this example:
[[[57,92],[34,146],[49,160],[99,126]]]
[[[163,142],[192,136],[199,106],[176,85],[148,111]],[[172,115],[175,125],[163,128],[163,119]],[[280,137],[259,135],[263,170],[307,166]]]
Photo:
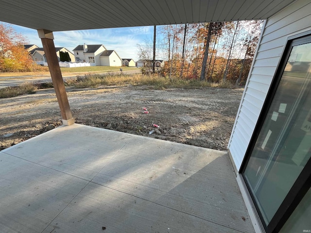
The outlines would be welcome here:
[[[266,96],[266,99],[263,103],[263,107],[261,109],[259,119],[258,119],[257,124],[255,126],[255,130],[252,134],[250,143],[247,147],[245,156],[244,156],[243,161],[242,161],[241,168],[239,170],[239,173],[242,176],[243,183],[245,183],[245,185],[246,185],[246,188],[247,188],[246,191],[252,199],[251,201],[252,201],[253,206],[255,206],[255,208],[256,208],[256,210],[255,210],[256,214],[259,216],[259,220],[261,221],[261,224],[267,233],[277,233],[281,230],[282,226],[285,224],[287,219],[294,212],[294,209],[297,207],[299,202],[303,199],[305,194],[310,189],[310,187],[311,187],[311,159],[309,159],[309,161],[307,162],[306,166],[304,167],[304,169],[302,170],[302,172],[298,176],[293,187],[291,188],[291,190],[289,191],[289,193],[287,194],[287,196],[285,197],[285,199],[281,203],[279,209],[276,211],[275,216],[271,219],[271,221],[268,225],[265,224],[265,222],[263,220],[263,216],[261,215],[261,213],[259,211],[257,211],[257,210],[259,210],[259,206],[254,201],[255,200],[254,195],[252,194],[252,192],[249,191],[251,189],[250,189],[249,184],[245,180],[244,171],[245,171],[245,168],[246,168],[248,161],[250,159],[250,155],[251,155],[251,153],[255,147],[255,143],[258,139],[259,132],[260,132],[260,130],[263,126],[263,123],[266,119],[266,116],[268,114],[271,103],[272,103],[274,96],[276,94],[276,89],[277,89],[278,84],[281,80],[281,77],[282,77],[284,68],[286,66],[286,63],[288,61],[288,58],[290,56],[291,50],[292,50],[293,46],[302,45],[302,44],[306,44],[306,43],[311,43],[311,31],[308,31],[305,33],[300,33],[300,34],[297,34],[297,35],[294,35],[294,36],[287,38],[286,44],[285,44],[283,52],[282,52],[281,59],[277,65],[276,72],[274,74],[272,83],[270,85],[268,94]]]

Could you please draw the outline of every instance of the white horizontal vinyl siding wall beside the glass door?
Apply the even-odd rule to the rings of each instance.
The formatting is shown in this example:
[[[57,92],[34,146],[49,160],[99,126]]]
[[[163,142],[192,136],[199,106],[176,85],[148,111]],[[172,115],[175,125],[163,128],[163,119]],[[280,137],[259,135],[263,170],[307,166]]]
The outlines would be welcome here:
[[[228,144],[238,170],[287,38],[309,30],[311,30],[310,0],[297,0],[267,19]]]

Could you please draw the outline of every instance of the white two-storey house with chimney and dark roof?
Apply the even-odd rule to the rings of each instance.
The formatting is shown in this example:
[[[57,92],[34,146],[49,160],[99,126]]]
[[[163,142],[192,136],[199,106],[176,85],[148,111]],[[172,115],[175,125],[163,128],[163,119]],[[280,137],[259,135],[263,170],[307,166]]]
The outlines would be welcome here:
[[[101,54],[105,50],[104,45],[78,45],[73,49],[74,60],[76,62],[95,63],[95,66],[102,66]]]

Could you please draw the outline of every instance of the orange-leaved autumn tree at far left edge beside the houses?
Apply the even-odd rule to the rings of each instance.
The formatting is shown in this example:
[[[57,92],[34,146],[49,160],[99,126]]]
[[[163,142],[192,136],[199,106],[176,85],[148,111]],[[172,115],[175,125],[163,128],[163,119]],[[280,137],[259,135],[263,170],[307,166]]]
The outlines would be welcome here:
[[[0,72],[33,71],[38,69],[24,45],[27,39],[11,26],[0,23]]]

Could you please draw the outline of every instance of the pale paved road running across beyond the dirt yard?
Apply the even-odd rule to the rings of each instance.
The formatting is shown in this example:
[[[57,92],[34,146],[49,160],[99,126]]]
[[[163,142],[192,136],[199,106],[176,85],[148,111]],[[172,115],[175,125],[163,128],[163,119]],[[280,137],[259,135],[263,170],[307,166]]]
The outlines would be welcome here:
[[[138,74],[141,71],[139,69],[135,70],[123,70],[123,74]],[[112,71],[112,72],[105,72],[99,74],[120,74],[120,71]],[[85,73],[81,73],[80,75],[84,75]],[[63,75],[63,79],[74,79],[77,77],[75,75]],[[30,82],[30,83],[47,83],[52,82],[50,75],[40,75],[40,76],[18,76],[18,77],[0,77],[0,88],[8,87],[8,86],[18,86],[21,83]]]

